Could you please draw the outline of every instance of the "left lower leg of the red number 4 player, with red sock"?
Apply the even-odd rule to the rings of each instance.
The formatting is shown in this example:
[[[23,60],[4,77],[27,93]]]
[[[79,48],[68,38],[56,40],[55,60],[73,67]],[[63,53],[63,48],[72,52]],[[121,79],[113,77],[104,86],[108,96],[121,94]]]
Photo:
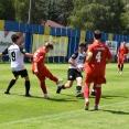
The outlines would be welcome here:
[[[89,108],[89,86],[90,84],[84,84],[85,110],[88,110]]]

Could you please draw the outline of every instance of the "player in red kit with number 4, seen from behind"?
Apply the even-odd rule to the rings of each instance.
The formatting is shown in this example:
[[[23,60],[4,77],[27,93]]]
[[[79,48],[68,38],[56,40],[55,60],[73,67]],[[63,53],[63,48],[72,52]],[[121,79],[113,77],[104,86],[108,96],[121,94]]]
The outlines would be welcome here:
[[[100,42],[101,32],[94,32],[94,43],[88,46],[86,56],[86,79],[84,85],[85,110],[89,108],[89,86],[96,84],[95,110],[101,96],[101,84],[106,83],[105,69],[106,64],[112,60],[112,55],[107,45]]]

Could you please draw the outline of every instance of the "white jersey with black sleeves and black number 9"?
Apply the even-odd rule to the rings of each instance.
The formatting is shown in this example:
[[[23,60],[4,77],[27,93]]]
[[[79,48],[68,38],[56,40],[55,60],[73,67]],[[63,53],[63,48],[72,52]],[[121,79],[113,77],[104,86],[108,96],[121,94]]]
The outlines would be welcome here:
[[[25,54],[25,50],[23,47],[18,46],[17,44],[10,45],[2,52],[3,55],[9,54],[11,60],[11,69],[12,72],[19,72],[25,69],[23,58]]]

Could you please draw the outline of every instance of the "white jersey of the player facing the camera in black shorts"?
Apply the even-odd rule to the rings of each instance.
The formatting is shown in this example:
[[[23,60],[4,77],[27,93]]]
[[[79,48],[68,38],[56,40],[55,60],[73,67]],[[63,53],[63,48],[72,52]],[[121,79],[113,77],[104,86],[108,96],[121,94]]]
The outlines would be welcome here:
[[[86,58],[86,53],[85,52],[80,53],[80,52],[76,51],[72,55],[72,58],[74,60],[74,63],[76,65],[79,65],[79,66],[82,65],[83,66],[84,65],[84,61]],[[76,67],[73,66],[73,65],[69,65],[69,68],[76,68]]]

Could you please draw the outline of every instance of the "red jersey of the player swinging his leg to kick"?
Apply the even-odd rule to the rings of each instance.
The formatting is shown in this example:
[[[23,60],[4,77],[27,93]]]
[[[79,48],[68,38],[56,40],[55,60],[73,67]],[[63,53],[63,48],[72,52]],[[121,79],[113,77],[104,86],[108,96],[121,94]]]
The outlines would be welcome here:
[[[37,63],[37,69],[39,72],[43,72],[43,68],[44,68],[44,58],[45,58],[45,50],[42,47],[42,49],[39,49],[34,55],[33,55],[33,64],[32,64],[32,72],[34,72],[34,63]]]

